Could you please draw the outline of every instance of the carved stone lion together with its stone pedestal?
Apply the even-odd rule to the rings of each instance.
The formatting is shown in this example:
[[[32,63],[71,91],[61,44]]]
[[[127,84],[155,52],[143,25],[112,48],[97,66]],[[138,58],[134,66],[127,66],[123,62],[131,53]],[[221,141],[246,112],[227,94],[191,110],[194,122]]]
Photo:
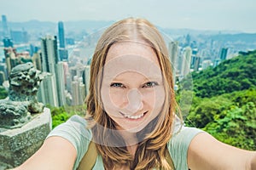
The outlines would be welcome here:
[[[51,130],[50,111],[37,99],[45,75],[32,63],[17,65],[9,74],[9,95],[0,100],[0,170],[26,161]]]

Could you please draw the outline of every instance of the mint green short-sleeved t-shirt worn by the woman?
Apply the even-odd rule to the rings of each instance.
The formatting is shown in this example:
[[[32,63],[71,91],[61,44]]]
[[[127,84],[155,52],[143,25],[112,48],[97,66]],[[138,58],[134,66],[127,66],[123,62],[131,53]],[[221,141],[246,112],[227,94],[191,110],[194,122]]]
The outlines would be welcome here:
[[[79,162],[82,160],[85,152],[88,150],[90,140],[92,139],[92,133],[90,129],[85,128],[87,122],[81,116],[72,116],[67,122],[62,123],[58,127],[55,127],[48,135],[60,136],[70,141],[77,150],[77,159],[73,166],[73,169],[79,167]],[[174,126],[174,135],[168,142],[167,148],[172,157],[172,161],[176,170],[186,170],[188,168],[187,155],[189,144],[197,133],[201,133],[198,128],[195,127],[182,127],[181,124],[176,121]],[[93,170],[103,170],[102,156],[98,155]]]

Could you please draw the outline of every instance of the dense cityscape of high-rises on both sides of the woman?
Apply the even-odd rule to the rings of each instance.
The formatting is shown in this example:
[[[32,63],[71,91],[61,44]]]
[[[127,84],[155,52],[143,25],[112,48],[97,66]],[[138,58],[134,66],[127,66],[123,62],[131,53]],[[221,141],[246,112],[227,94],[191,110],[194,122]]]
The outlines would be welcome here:
[[[102,27],[99,25],[66,27],[59,21],[55,27],[38,24],[36,29],[8,22],[2,15],[0,37],[0,86],[8,89],[9,72],[16,65],[32,62],[43,72],[38,100],[45,105],[82,105],[88,94],[90,58]],[[20,25],[21,26],[21,25]],[[40,27],[42,26],[42,27]],[[52,26],[52,25],[50,25]],[[55,29],[57,28],[57,29]],[[69,29],[66,29],[69,28]],[[221,31],[193,31],[161,29],[174,67],[174,79],[181,80],[191,71],[201,71],[216,66],[238,54],[247,54],[256,48],[256,34]],[[172,37],[172,38],[171,38]]]

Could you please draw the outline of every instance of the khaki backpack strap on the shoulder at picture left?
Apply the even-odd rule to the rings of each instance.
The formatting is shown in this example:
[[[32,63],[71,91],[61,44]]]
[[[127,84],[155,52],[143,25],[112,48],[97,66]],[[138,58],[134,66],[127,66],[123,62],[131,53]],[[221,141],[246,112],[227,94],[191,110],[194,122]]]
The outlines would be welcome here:
[[[78,170],[91,170],[96,163],[97,155],[96,144],[94,142],[90,142],[87,152],[79,163]]]

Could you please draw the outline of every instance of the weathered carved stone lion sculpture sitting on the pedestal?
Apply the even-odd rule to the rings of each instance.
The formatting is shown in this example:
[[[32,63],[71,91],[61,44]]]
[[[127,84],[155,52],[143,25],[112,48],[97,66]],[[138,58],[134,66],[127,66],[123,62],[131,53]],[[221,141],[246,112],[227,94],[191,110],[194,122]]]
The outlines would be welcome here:
[[[37,93],[44,73],[32,63],[15,66],[9,74],[9,96],[0,100],[0,127],[21,127],[32,119],[32,114],[44,111]]]

